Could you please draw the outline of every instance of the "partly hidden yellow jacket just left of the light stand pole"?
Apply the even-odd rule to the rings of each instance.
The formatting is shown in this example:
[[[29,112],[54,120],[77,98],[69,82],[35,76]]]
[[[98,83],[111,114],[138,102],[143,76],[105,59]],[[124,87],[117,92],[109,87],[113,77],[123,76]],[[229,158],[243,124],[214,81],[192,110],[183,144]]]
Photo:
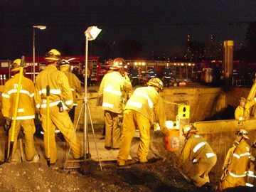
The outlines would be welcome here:
[[[75,74],[68,72],[68,70],[63,71],[63,73],[65,73],[68,78],[68,82],[73,93],[74,106],[77,106],[78,101],[76,98],[76,92],[78,92],[79,94],[82,92],[80,80],[75,76]]]

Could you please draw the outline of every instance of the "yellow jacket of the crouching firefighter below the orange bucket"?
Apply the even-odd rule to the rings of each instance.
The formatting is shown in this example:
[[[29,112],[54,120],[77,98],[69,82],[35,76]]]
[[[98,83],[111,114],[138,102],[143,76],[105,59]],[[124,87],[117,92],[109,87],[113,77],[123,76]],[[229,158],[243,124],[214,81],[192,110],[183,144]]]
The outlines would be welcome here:
[[[210,158],[215,156],[213,149],[206,142],[206,140],[199,134],[193,134],[185,143],[181,151],[178,164],[183,164],[186,159],[192,161],[193,159]]]

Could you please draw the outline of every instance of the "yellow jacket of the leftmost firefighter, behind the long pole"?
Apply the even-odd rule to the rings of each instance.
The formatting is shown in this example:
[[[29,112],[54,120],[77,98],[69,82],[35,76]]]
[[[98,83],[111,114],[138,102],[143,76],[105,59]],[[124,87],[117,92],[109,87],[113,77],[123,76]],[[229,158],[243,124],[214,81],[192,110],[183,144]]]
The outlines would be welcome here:
[[[14,75],[4,85],[2,92],[2,113],[4,117],[11,117],[14,119],[14,109],[16,105],[16,95],[18,90],[19,74]],[[17,120],[33,119],[35,118],[35,104],[34,104],[34,85],[33,82],[21,76],[21,90],[18,100]]]

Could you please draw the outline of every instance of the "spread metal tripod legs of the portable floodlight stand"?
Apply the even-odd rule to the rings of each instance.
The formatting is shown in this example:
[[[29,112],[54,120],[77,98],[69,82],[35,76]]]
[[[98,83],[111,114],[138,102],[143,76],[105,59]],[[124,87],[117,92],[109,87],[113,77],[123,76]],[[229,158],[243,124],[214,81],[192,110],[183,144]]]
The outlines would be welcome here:
[[[92,126],[92,133],[93,133],[93,137],[94,137],[94,140],[95,140],[95,147],[96,147],[96,151],[97,151],[97,157],[98,157],[98,160],[100,162],[100,156],[99,156],[99,152],[97,150],[97,144],[96,144],[96,139],[95,139],[95,132],[94,132],[94,128],[93,128],[93,125],[92,125],[92,117],[91,117],[91,114],[90,114],[90,107],[88,105],[88,102],[87,100],[89,99],[89,97],[85,97],[83,102],[82,102],[82,106],[81,106],[81,109],[80,109],[80,113],[78,115],[78,122],[79,122],[79,119],[80,119],[80,115],[82,113],[82,107],[85,107],[85,129],[84,129],[84,161],[86,159],[90,159],[90,149],[89,149],[89,137],[88,137],[88,127],[87,127],[87,110],[88,110],[88,114],[89,114],[89,117],[90,117],[90,123],[91,123],[91,126]],[[87,108],[87,109],[86,109]],[[75,131],[78,127],[78,122],[76,123],[75,125]],[[73,143],[73,139],[75,137],[75,131],[74,131],[74,134],[73,134],[73,137],[72,137],[72,140],[71,140],[71,143],[70,143],[70,149],[68,150],[68,155],[67,155],[67,158],[66,158],[66,161],[65,161],[65,166],[63,168],[63,171],[65,171],[65,168],[66,168],[66,164],[68,162],[68,156],[70,154],[70,150],[71,150],[71,146],[72,146],[72,143]],[[86,145],[87,144],[87,145]],[[87,149],[88,149],[88,153],[87,153]],[[87,155],[88,154],[88,155]],[[100,162],[100,170],[102,170],[102,166],[101,166],[101,162]]]

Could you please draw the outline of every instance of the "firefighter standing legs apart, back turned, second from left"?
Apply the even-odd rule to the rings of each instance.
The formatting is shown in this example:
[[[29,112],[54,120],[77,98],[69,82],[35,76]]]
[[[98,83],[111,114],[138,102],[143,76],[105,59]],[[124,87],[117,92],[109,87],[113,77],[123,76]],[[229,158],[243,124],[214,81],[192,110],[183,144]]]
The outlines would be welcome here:
[[[45,70],[42,70],[36,77],[35,86],[35,97],[36,97],[36,109],[41,114],[41,122],[44,139],[44,147],[46,154],[50,150],[50,164],[55,164],[57,161],[57,149],[55,142],[55,127],[57,127],[60,132],[65,137],[65,140],[70,145],[71,139],[73,139],[73,144],[71,146],[71,151],[75,159],[82,159],[82,146],[77,135],[74,133],[75,128],[68,115],[68,111],[73,107],[73,94],[70,89],[67,76],[57,69],[60,65],[60,53],[58,50],[52,49],[45,56],[48,65]],[[46,86],[50,87],[50,149],[47,146],[47,123],[46,123]],[[74,135],[74,137],[73,137]]]

